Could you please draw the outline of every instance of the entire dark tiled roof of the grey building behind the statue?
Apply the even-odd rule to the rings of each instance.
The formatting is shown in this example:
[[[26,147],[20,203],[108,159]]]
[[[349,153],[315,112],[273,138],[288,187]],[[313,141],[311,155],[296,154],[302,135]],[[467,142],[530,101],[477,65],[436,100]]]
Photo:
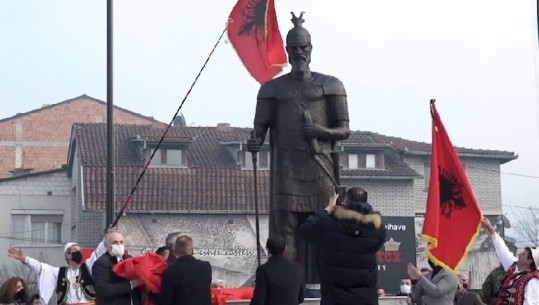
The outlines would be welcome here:
[[[252,212],[253,171],[242,170],[226,145],[245,143],[250,131],[249,128],[236,127],[172,127],[165,141],[188,143],[188,167],[148,168],[131,200],[129,210]],[[80,162],[84,166],[85,207],[103,209],[106,200],[106,125],[75,124],[73,132],[80,152]],[[158,141],[163,132],[164,129],[147,125],[115,127],[118,206],[131,192],[144,166],[136,142]],[[385,168],[342,170],[342,177],[413,179],[418,173],[399,160],[395,150],[405,151],[405,147],[423,149],[424,152],[430,150],[430,146],[425,143],[361,131],[352,132],[350,139],[343,143],[381,147],[385,151]],[[258,194],[260,210],[267,211],[268,170],[258,171]]]

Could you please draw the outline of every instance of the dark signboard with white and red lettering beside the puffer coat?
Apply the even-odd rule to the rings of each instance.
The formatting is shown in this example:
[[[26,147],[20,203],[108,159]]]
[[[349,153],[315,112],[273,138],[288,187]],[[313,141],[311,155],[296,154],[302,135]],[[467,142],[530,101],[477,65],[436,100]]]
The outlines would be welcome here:
[[[387,294],[399,292],[400,279],[408,277],[408,263],[415,265],[414,217],[384,216],[386,242],[376,254],[378,287]]]

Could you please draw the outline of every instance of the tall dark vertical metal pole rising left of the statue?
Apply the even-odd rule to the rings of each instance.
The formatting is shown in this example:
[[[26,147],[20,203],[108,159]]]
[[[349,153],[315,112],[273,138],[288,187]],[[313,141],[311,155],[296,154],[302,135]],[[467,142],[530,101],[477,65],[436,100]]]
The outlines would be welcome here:
[[[114,104],[112,70],[112,0],[107,0],[107,201],[106,227],[114,217]],[[106,228],[105,228],[106,230]]]

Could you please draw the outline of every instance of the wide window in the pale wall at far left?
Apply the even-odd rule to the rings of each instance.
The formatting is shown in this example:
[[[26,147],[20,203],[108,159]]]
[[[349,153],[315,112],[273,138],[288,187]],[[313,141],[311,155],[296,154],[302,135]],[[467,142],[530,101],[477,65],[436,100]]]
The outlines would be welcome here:
[[[62,243],[63,215],[11,215],[11,244]]]

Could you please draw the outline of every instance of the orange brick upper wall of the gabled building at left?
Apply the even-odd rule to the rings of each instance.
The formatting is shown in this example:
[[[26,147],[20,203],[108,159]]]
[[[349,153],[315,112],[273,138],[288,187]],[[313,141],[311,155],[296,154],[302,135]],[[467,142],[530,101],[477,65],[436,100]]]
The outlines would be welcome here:
[[[16,167],[15,147],[19,147],[22,167],[34,171],[60,167],[67,162],[73,123],[106,122],[105,104],[81,96],[0,122],[0,178],[9,177]],[[153,124],[154,120],[116,109],[117,124]]]

